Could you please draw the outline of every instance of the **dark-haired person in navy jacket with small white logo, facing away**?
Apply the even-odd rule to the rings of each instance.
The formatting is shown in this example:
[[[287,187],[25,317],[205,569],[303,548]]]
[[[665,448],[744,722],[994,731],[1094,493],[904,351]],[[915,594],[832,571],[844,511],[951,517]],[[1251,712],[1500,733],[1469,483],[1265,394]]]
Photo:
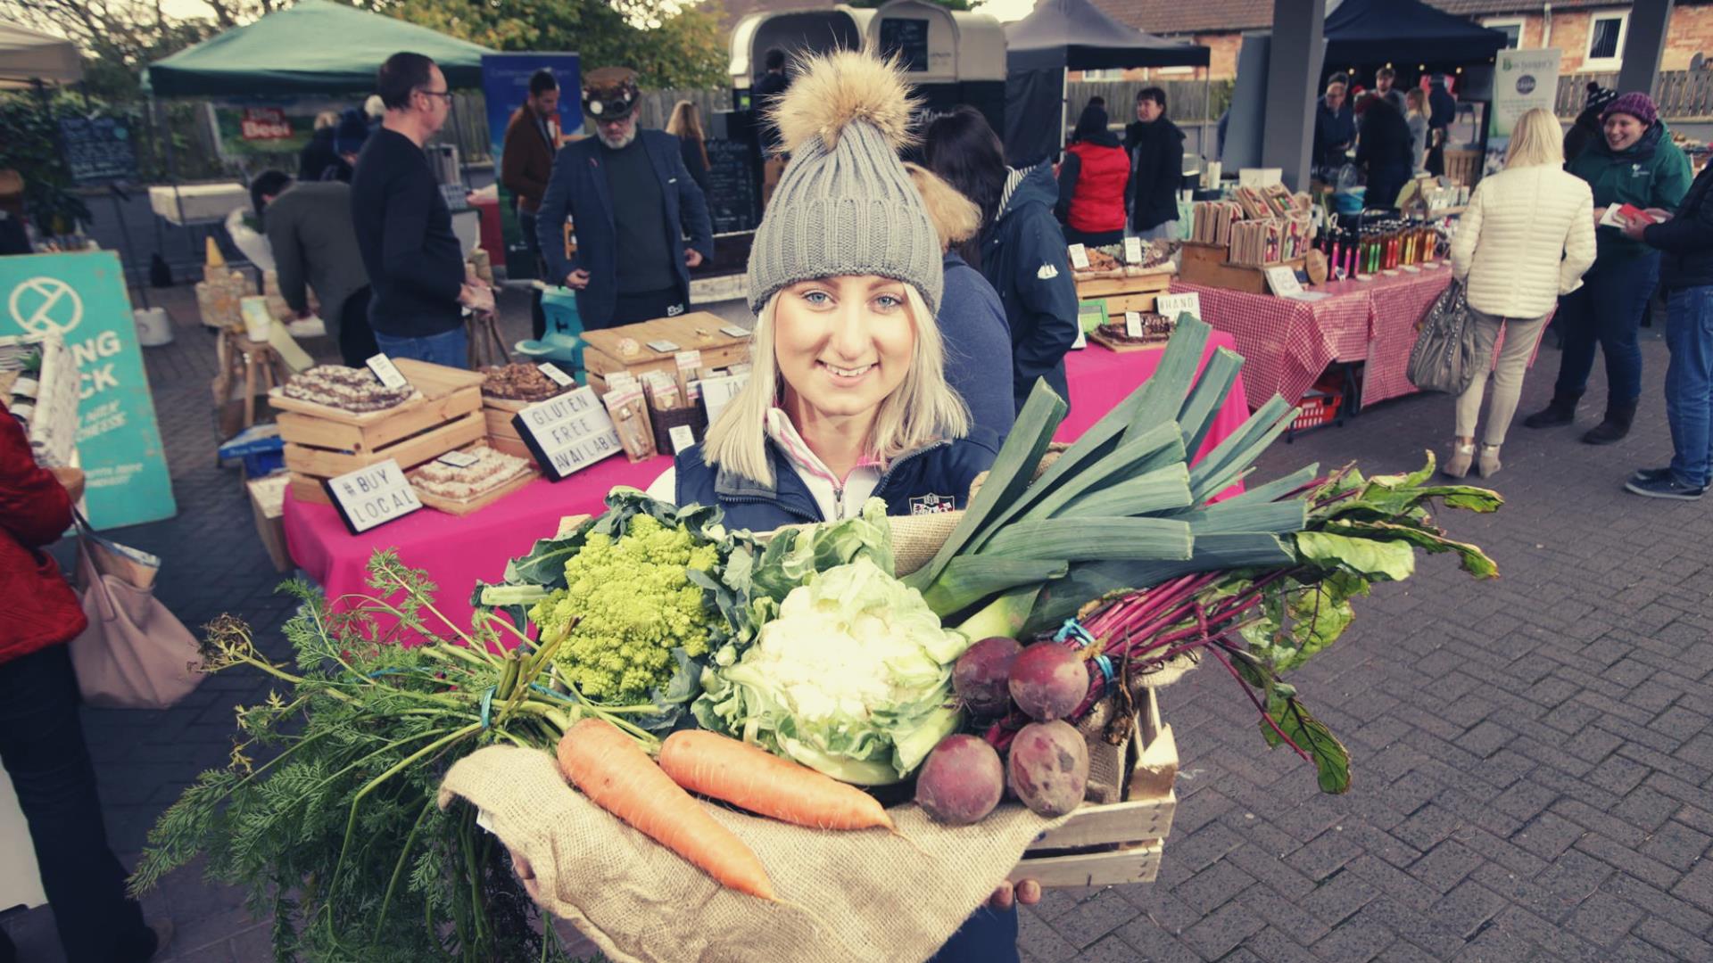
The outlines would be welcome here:
[[[1052,164],[1007,168],[999,135],[973,106],[937,118],[925,144],[928,170],[982,211],[982,233],[959,254],[994,284],[1006,307],[1014,410],[1023,410],[1036,379],[1047,379],[1069,404],[1065,351],[1077,336],[1077,296],[1065,238],[1053,218],[1059,183]]]

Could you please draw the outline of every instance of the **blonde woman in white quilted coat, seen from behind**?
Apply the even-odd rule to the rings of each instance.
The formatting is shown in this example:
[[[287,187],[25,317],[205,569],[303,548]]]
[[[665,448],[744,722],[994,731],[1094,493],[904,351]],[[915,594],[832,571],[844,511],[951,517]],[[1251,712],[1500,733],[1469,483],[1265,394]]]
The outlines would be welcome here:
[[[1451,272],[1463,281],[1483,367],[1499,331],[1504,348],[1492,370],[1482,478],[1499,471],[1499,446],[1516,415],[1528,360],[1559,295],[1581,286],[1595,262],[1595,199],[1588,182],[1564,170],[1559,120],[1531,110],[1511,130],[1506,166],[1482,178],[1451,243]],[[1458,435],[1444,471],[1453,478],[1477,463],[1475,422],[1487,391],[1482,372],[1458,396]]]

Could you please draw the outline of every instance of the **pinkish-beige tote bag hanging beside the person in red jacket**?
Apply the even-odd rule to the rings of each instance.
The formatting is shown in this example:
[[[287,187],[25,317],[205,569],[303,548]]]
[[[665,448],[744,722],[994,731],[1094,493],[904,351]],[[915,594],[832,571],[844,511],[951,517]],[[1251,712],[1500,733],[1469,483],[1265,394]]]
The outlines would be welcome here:
[[[154,598],[159,571],[158,557],[103,538],[77,516],[77,584],[89,627],[70,649],[91,706],[164,709],[202,682],[195,636]]]

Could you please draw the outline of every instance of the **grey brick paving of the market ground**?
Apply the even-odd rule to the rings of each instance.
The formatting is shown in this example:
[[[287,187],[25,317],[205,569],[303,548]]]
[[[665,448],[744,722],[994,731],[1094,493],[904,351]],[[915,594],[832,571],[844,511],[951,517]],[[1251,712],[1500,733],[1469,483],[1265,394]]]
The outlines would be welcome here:
[[[281,646],[278,576],[236,471],[211,454],[212,341],[185,291],[168,295],[178,343],[149,351],[149,374],[182,514],[122,538],[163,555],[161,598],[187,624],[233,610]],[[522,324],[519,300],[505,305]],[[1620,492],[1668,452],[1655,332],[1644,356],[1629,440],[1579,444],[1588,413],[1574,432],[1518,427],[1490,482],[1507,505],[1446,517],[1499,560],[1501,581],[1429,559],[1360,600],[1350,634],[1297,673],[1352,749],[1348,795],[1317,795],[1307,764],[1268,752],[1228,679],[1191,673],[1161,696],[1184,771],[1160,881],[1048,893],[1024,910],[1024,960],[1713,960],[1713,516]],[[1523,413],[1555,365],[1543,351]],[[1590,394],[1602,389],[1597,375]],[[1276,446],[1261,471],[1357,458],[1410,470],[1449,428],[1446,398],[1388,403]],[[262,692],[214,677],[166,713],[86,711],[127,860],[195,773],[223,763],[231,708]],[[178,924],[171,960],[269,960],[266,925],[240,903],[187,869],[149,912]],[[60,958],[48,910],[7,927],[26,961]]]

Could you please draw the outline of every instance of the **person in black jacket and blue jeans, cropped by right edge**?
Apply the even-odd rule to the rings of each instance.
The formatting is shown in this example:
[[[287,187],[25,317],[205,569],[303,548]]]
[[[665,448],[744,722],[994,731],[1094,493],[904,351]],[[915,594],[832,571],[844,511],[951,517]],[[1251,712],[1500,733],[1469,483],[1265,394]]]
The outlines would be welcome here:
[[[1643,468],[1624,485],[1650,499],[1699,499],[1713,482],[1713,164],[1689,185],[1677,212],[1648,209],[1624,236],[1660,248],[1665,293],[1665,420],[1672,463]]]

